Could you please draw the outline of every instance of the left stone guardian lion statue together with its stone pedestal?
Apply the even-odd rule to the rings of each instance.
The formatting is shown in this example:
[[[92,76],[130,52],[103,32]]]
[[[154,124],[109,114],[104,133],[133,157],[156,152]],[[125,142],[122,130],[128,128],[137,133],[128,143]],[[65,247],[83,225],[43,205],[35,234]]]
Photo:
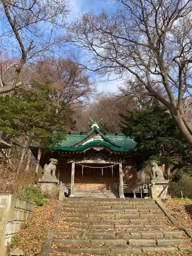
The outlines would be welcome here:
[[[41,192],[44,194],[52,194],[57,191],[58,180],[56,178],[57,159],[51,158],[50,163],[44,166],[43,177],[39,178]]]

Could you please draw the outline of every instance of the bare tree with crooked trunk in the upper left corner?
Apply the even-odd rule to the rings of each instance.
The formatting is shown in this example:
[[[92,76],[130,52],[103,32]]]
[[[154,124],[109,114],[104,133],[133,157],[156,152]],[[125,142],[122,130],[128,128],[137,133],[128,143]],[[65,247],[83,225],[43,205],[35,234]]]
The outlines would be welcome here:
[[[67,0],[0,1],[0,94],[22,86],[25,64],[57,53],[67,14]]]

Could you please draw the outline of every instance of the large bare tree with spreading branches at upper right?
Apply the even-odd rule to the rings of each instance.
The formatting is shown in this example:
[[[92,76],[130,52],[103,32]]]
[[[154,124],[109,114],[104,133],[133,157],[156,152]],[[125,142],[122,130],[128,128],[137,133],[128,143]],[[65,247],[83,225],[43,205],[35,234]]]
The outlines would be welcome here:
[[[83,50],[84,68],[142,84],[148,95],[169,109],[192,145],[192,123],[182,103],[191,97],[192,88],[192,1],[114,3],[118,9],[113,14],[89,12],[76,18],[69,26],[68,41]],[[164,87],[167,97],[156,84]]]

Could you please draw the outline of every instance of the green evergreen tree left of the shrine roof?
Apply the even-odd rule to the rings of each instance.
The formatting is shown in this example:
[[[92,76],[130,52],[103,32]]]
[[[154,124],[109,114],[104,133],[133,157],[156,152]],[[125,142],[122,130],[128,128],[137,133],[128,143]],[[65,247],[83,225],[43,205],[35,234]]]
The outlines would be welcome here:
[[[59,108],[50,95],[49,85],[36,85],[18,89],[11,94],[0,95],[0,131],[7,141],[27,142],[53,150],[65,139],[65,131],[71,119],[62,102]]]

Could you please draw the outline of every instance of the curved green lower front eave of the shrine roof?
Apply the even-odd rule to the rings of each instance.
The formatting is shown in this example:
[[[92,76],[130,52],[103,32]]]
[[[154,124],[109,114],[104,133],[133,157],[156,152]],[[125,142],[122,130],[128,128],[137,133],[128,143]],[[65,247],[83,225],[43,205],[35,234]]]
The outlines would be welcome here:
[[[56,146],[56,150],[65,150],[65,151],[83,151],[86,150],[86,148],[91,148],[91,147],[106,147],[106,148],[110,148],[110,150],[112,151],[116,151],[116,152],[134,152],[137,151],[136,148],[121,148],[121,147],[114,147],[113,145],[109,144],[108,142],[105,141],[100,141],[100,140],[95,140],[93,142],[89,142],[86,143],[84,145],[80,145],[80,146],[70,146],[70,147],[59,147]]]

